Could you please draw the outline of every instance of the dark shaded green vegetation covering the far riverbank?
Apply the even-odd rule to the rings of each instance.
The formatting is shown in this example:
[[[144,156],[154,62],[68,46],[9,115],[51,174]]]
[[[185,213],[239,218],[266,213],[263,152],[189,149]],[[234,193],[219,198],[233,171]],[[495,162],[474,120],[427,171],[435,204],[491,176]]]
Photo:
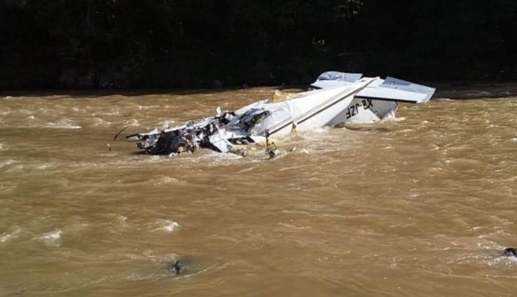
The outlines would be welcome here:
[[[3,89],[517,77],[515,0],[0,1]]]

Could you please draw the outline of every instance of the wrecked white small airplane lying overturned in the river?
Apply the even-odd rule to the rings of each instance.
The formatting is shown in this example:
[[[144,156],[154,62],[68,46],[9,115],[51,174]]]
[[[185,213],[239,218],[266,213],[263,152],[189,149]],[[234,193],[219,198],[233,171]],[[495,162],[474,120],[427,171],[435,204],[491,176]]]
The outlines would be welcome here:
[[[393,118],[398,102],[426,103],[435,89],[387,77],[324,72],[310,91],[296,94],[276,92],[272,98],[236,111],[188,121],[184,125],[127,136],[148,154],[174,155],[210,149],[232,152],[235,146],[267,143],[293,131],[307,131],[346,123],[371,123]]]

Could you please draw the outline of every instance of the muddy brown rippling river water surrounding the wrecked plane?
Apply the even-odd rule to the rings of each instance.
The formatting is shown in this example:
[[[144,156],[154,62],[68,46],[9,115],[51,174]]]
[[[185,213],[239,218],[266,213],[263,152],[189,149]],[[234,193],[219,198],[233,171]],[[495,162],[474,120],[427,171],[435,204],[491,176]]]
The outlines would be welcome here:
[[[0,296],[517,295],[516,97],[401,104],[271,160],[124,141],[271,93],[1,96]]]

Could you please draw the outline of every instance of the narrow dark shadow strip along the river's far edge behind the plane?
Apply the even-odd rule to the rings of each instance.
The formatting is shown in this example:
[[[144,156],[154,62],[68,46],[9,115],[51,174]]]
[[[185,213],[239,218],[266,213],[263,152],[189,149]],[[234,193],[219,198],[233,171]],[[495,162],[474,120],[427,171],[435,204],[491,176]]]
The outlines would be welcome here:
[[[434,98],[449,98],[457,100],[472,100],[479,98],[503,98],[517,97],[517,81],[516,82],[426,82],[421,83],[426,86],[436,88]],[[306,86],[264,86],[253,87],[264,89],[280,89],[280,90],[305,90]],[[145,95],[196,95],[196,94],[214,94],[221,92],[231,92],[246,90],[242,87],[228,87],[216,89],[94,89],[94,90],[12,90],[0,91],[2,97],[42,97],[42,96],[70,96],[70,97],[103,97],[103,96],[145,96]]]

